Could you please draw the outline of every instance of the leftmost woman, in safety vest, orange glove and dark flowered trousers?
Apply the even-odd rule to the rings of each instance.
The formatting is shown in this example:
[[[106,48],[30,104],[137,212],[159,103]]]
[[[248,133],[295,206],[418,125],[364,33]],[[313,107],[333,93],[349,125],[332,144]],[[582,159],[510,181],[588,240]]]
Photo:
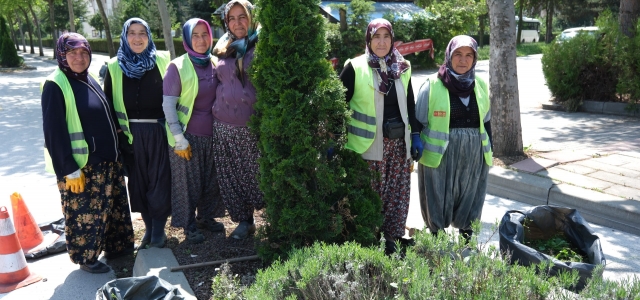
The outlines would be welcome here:
[[[42,86],[45,164],[58,179],[71,261],[106,273],[111,269],[98,260],[103,250],[105,256],[134,251],[118,124],[111,101],[87,72],[89,42],[65,33],[56,54],[58,68]]]

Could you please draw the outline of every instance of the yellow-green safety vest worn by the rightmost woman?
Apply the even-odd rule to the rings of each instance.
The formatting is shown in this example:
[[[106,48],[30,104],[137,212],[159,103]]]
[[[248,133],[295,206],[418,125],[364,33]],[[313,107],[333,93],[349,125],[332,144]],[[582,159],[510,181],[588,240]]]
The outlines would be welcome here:
[[[420,138],[425,143],[424,152],[420,163],[431,168],[437,168],[442,161],[442,156],[449,145],[449,121],[450,115],[450,99],[449,90],[444,86],[442,81],[437,77],[429,77],[429,126],[420,133]],[[484,116],[491,109],[489,100],[489,91],[487,84],[479,77],[476,77],[474,87],[476,102],[478,103],[478,112],[480,114],[480,139],[482,140],[482,152],[484,153],[485,163],[489,166],[493,165],[493,151],[489,143],[489,136],[484,129]],[[447,99],[447,101],[442,101]]]

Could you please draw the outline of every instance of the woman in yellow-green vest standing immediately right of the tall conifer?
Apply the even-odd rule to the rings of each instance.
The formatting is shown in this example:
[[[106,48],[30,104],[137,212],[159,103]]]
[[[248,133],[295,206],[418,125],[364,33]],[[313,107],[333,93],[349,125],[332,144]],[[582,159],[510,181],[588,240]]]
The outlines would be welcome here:
[[[385,253],[397,251],[409,212],[411,158],[422,155],[420,123],[415,118],[411,65],[393,46],[393,28],[385,19],[369,23],[365,54],[348,60],[340,73],[353,110],[346,148],[362,154],[369,168],[379,172],[372,183],[380,195]]]

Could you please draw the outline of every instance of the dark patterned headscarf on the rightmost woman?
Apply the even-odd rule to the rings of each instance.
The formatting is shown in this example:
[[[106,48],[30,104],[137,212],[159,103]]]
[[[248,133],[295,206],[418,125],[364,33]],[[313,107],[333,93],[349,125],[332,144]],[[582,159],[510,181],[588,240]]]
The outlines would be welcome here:
[[[473,64],[471,69],[464,74],[458,74],[453,70],[451,64],[451,54],[461,47],[469,47],[473,49]],[[471,95],[475,87],[476,79],[476,62],[478,62],[478,43],[468,35],[458,35],[449,41],[447,49],[444,52],[444,63],[438,70],[438,78],[449,91],[458,97],[466,98]]]

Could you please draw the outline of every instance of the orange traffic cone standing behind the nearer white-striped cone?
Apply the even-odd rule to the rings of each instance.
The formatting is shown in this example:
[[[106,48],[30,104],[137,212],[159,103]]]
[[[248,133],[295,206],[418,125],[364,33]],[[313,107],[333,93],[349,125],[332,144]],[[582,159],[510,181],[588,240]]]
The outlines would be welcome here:
[[[42,244],[44,236],[19,193],[11,195],[11,207],[13,208],[13,225],[16,229],[20,246],[22,246],[24,253],[28,253]]]

